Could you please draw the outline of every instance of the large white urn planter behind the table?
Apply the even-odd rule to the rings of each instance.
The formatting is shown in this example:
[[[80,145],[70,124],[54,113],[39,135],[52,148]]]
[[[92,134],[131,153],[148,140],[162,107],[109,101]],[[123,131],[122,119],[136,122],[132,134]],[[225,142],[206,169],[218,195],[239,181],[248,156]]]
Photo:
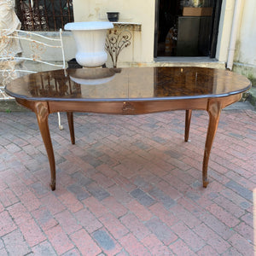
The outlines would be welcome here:
[[[64,26],[71,30],[77,45],[76,60],[83,67],[100,67],[108,60],[105,52],[107,31],[113,28],[108,21],[72,22]]]

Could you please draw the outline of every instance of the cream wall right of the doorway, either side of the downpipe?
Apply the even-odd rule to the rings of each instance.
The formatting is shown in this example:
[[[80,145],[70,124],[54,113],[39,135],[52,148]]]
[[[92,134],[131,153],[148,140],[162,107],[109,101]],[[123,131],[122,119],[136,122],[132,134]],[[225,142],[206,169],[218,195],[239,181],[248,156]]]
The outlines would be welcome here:
[[[216,58],[227,61],[230,48],[230,32],[235,8],[235,0],[224,0],[219,22]],[[241,0],[240,26],[236,38],[234,70],[249,77],[256,77],[256,1]]]

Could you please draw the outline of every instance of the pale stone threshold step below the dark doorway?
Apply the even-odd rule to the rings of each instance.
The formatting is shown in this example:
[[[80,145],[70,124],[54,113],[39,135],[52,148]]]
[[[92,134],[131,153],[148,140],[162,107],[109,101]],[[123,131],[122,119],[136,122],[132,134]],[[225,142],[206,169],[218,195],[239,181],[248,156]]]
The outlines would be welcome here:
[[[209,57],[169,57],[154,58],[155,67],[212,67],[225,69],[225,62]]]

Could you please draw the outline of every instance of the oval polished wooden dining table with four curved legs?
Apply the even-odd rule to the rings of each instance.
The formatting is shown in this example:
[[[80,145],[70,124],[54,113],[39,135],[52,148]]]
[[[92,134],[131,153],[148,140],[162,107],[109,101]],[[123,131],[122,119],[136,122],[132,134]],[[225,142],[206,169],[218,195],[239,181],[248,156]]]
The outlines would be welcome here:
[[[49,113],[67,113],[74,144],[74,112],[125,115],[185,110],[184,141],[188,142],[192,110],[206,110],[209,121],[202,164],[202,185],[206,188],[208,162],[221,110],[238,102],[250,87],[246,77],[221,69],[125,67],[32,73],[13,80],[5,91],[36,113],[49,159],[52,190],[55,190],[56,176]]]

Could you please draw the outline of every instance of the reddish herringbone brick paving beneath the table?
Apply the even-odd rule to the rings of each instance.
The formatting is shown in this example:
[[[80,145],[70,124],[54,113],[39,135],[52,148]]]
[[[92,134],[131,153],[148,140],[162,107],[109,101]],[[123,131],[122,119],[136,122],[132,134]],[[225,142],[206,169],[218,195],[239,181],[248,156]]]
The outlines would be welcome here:
[[[0,255],[253,255],[256,112],[224,110],[207,189],[207,113],[50,115],[57,185],[34,113],[0,113]],[[255,215],[254,215],[255,216]]]

